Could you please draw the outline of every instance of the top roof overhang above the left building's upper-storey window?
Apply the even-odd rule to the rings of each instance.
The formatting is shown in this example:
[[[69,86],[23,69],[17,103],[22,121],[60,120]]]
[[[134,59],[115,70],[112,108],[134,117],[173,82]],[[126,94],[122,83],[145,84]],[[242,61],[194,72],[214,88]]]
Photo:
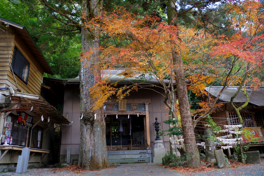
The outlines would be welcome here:
[[[3,18],[0,18],[0,22],[5,23],[5,24],[9,24],[9,25],[15,27],[16,33],[24,41],[24,44],[27,46],[27,48],[32,53],[32,55],[35,57],[35,59],[39,62],[39,64],[43,68],[44,72],[51,74],[51,75],[54,75],[53,70],[51,69],[50,65],[48,64],[45,57],[43,56],[43,54],[41,53],[41,51],[37,47],[36,43],[34,42],[32,37],[30,36],[30,34],[27,31],[27,29],[25,28],[25,26],[22,26],[20,24],[17,24],[15,22],[12,22],[12,21],[9,21],[9,20],[3,19]]]

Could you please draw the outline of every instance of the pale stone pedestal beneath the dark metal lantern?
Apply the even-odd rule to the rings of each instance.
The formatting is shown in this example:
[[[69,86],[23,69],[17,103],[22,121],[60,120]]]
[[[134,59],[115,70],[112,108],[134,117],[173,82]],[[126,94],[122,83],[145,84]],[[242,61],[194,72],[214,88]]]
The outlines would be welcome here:
[[[153,151],[153,163],[162,163],[162,157],[166,154],[166,149],[162,144],[162,140],[154,141],[155,145]]]

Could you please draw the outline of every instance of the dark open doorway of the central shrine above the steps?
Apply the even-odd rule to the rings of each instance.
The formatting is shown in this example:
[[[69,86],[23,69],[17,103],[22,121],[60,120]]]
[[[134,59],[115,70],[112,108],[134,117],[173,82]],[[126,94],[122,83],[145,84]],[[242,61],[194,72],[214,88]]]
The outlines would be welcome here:
[[[144,115],[109,115],[105,118],[107,151],[145,150]]]

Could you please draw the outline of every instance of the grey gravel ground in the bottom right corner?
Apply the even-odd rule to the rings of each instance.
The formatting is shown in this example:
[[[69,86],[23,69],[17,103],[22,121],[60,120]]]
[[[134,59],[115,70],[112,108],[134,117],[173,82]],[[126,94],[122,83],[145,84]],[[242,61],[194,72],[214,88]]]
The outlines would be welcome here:
[[[217,169],[214,171],[206,172],[206,173],[191,173],[190,175],[212,175],[212,176],[261,176],[264,175],[264,162],[261,164],[252,164],[247,166],[241,166],[237,168],[225,168],[225,169]]]

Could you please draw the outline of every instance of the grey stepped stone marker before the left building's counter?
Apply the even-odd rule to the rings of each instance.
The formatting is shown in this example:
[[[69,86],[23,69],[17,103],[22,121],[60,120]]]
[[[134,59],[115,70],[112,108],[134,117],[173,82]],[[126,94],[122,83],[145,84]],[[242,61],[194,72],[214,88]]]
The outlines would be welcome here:
[[[30,148],[23,148],[21,156],[18,156],[16,173],[27,172],[27,166],[29,164]]]

